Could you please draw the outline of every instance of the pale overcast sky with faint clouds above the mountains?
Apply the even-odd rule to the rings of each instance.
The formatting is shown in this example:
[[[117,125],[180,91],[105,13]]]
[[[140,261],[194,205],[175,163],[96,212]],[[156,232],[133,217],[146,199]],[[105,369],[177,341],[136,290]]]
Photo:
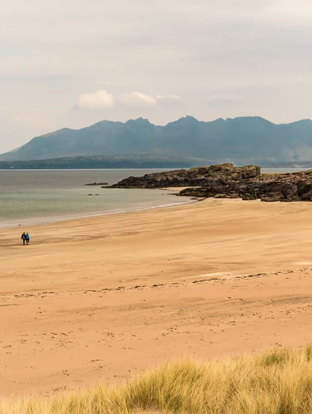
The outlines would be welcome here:
[[[310,0],[0,6],[0,152],[103,119],[312,117]]]

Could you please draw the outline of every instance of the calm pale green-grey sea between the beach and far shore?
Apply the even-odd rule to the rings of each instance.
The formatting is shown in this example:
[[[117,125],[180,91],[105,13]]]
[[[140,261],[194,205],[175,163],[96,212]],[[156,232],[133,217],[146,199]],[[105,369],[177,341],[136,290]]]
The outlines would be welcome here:
[[[297,170],[262,168],[262,172]],[[162,170],[0,170],[0,228],[190,202],[165,190],[85,186],[93,182],[111,185],[126,177],[158,171]]]

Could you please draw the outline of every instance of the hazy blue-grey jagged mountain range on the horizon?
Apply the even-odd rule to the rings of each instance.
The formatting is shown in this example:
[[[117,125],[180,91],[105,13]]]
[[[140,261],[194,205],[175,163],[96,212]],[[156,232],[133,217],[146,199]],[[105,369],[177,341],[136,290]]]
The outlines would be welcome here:
[[[134,156],[135,155],[135,156]],[[216,119],[184,117],[166,126],[147,119],[101,121],[80,130],[64,128],[35,137],[0,161],[61,157],[146,157],[179,159],[188,165],[298,163],[312,159],[312,121],[273,124],[261,117]]]

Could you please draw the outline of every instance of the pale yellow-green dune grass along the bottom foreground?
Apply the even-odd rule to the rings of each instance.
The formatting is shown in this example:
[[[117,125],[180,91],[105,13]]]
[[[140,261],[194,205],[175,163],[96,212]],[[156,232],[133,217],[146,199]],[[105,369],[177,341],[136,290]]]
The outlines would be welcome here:
[[[312,345],[148,371],[117,388],[1,400],[0,414],[310,414]]]

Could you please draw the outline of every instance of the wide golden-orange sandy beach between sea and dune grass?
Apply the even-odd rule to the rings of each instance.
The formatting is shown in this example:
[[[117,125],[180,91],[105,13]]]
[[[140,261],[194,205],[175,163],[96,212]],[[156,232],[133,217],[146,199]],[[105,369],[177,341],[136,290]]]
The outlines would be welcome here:
[[[0,230],[1,395],[311,341],[311,209],[208,199]]]

